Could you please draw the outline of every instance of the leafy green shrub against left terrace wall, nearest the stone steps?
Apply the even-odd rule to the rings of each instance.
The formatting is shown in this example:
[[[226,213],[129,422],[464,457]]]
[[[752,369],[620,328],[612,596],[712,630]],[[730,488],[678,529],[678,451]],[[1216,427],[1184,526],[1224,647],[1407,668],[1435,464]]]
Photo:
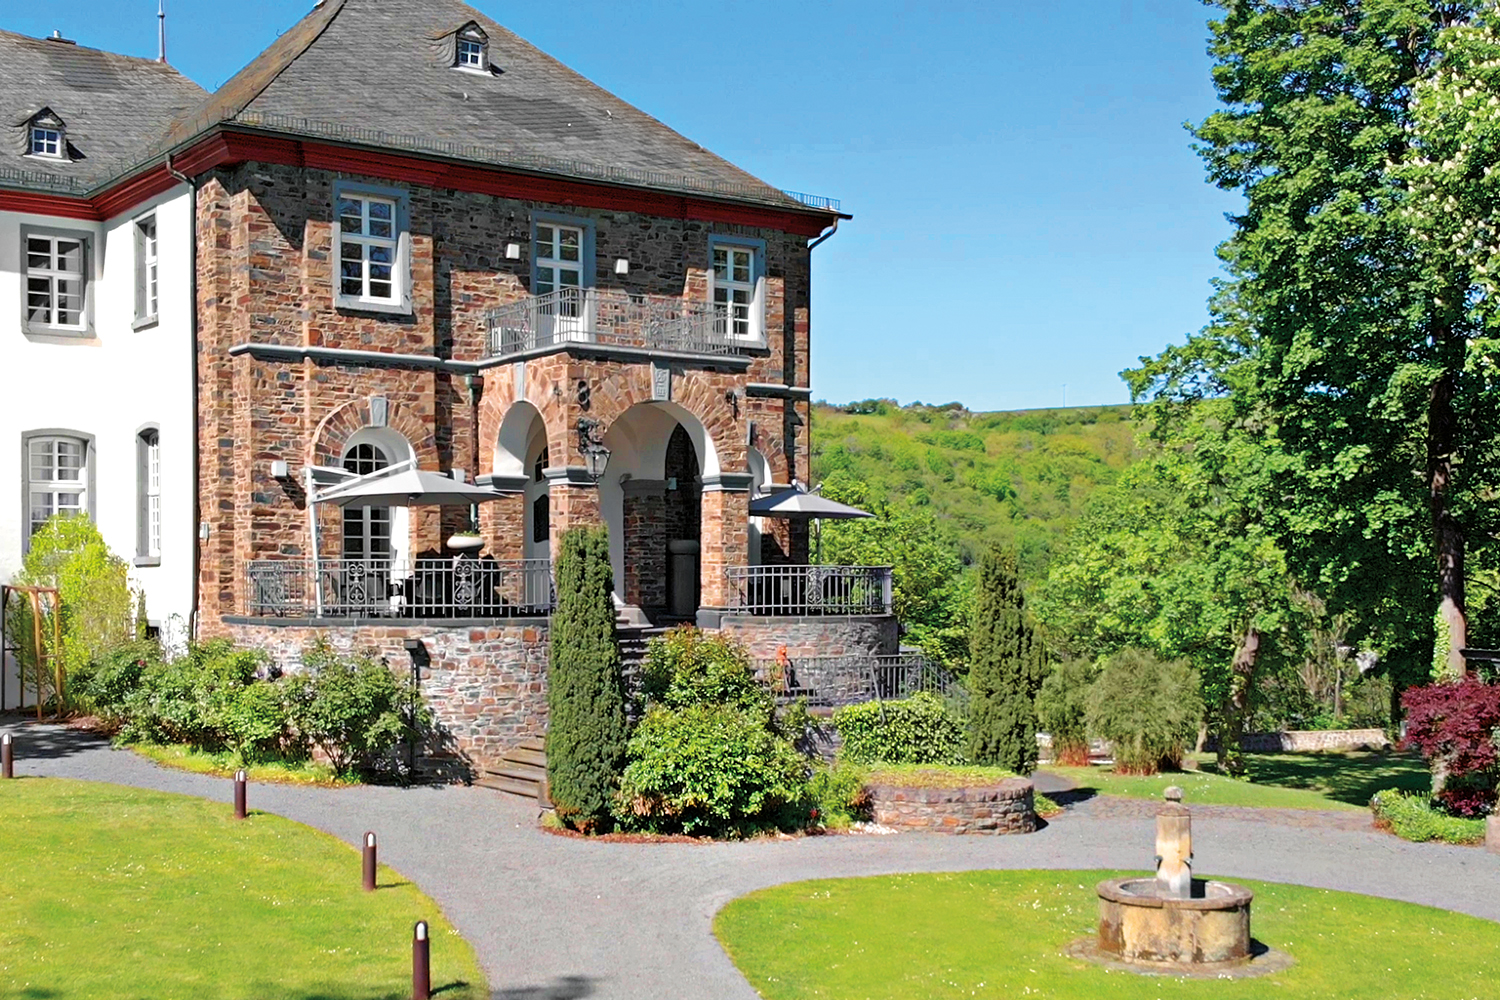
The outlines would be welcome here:
[[[426,727],[424,706],[384,663],[339,655],[320,639],[303,651],[303,664],[310,676],[291,700],[291,723],[328,757],[336,775],[380,769],[392,750]],[[260,708],[268,705],[267,699]],[[264,721],[246,721],[246,733],[266,729]]]

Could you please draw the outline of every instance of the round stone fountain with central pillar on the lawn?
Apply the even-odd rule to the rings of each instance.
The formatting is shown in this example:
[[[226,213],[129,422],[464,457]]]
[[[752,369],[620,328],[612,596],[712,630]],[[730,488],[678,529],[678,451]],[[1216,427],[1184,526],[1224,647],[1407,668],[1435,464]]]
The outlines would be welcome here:
[[[1098,894],[1100,933],[1070,949],[1078,958],[1168,975],[1260,975],[1290,964],[1252,948],[1250,889],[1192,877],[1192,817],[1182,789],[1167,789],[1156,813],[1156,877],[1107,879]]]

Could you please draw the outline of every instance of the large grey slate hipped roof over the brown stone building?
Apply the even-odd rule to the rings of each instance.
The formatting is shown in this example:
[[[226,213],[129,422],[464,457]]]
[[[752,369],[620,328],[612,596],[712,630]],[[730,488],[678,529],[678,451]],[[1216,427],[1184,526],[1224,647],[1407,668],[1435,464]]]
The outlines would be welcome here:
[[[492,72],[454,69],[454,33]],[[459,0],[324,0],[172,132],[237,121],[654,189],[806,208]]]

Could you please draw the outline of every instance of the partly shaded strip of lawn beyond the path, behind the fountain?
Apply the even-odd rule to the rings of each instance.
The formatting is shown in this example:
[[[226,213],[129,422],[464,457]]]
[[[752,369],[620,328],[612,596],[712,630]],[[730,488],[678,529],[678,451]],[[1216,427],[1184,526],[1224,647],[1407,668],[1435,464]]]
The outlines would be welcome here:
[[[1197,757],[1202,771],[1150,777],[1118,775],[1110,768],[1042,771],[1071,778],[1080,789],[1130,799],[1160,799],[1179,786],[1188,805],[1254,805],[1280,810],[1365,810],[1380,789],[1425,790],[1431,774],[1416,754],[1329,753],[1245,754],[1248,781],[1214,774],[1214,754]]]

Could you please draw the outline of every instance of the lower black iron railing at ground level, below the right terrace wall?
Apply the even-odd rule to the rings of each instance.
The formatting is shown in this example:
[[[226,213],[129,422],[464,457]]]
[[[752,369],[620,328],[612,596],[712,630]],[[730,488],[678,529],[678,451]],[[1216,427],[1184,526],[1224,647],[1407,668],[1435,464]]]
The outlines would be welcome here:
[[[963,682],[920,652],[758,660],[754,669],[783,703],[806,699],[810,708],[843,708],[896,702],[926,691],[942,699],[954,714],[968,714],[969,691]]]

